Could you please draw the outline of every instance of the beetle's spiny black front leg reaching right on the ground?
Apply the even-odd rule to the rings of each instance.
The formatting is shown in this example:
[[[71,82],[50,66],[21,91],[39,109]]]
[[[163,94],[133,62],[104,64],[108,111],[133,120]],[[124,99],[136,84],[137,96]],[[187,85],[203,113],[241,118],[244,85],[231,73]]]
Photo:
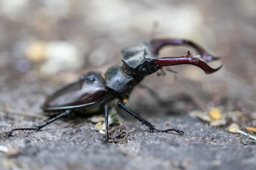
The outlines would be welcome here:
[[[158,132],[175,131],[175,132],[177,132],[177,133],[180,133],[181,136],[184,134],[183,131],[178,130],[178,129],[167,129],[167,130],[158,130],[158,129],[156,129],[156,128],[154,127],[154,125],[152,125],[151,123],[149,123],[147,120],[143,119],[143,117],[141,117],[141,116],[138,115],[137,113],[134,113],[134,112],[131,111],[130,109],[126,108],[126,107],[125,107],[125,103],[122,102],[122,100],[120,100],[120,101],[117,103],[117,106],[118,106],[120,109],[122,109],[122,110],[126,111],[127,113],[129,113],[131,116],[134,116],[134,118],[138,119],[138,120],[142,123],[142,125],[145,124],[145,125],[149,128],[150,132],[152,131],[152,133],[153,133],[154,130],[157,130]],[[182,133],[183,133],[183,134],[182,134]]]

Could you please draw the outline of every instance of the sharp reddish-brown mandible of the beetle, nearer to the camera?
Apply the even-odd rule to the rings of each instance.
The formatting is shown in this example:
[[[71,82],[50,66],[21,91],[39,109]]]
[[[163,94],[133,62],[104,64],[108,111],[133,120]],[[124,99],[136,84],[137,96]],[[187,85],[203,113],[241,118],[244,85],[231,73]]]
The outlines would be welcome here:
[[[152,59],[152,63],[154,66],[157,67],[157,69],[171,65],[191,64],[198,66],[199,68],[204,70],[206,74],[214,73],[222,67],[221,65],[220,67],[215,69],[211,68],[200,56],[192,56],[189,51],[187,55],[181,57],[163,57],[158,59]]]

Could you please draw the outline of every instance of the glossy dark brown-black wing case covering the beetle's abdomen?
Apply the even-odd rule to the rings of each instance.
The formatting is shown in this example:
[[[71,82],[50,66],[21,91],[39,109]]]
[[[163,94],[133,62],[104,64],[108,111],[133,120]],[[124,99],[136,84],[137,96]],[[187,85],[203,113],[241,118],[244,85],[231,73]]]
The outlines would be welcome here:
[[[45,112],[88,107],[107,100],[108,89],[101,73],[89,72],[49,96],[42,105]]]

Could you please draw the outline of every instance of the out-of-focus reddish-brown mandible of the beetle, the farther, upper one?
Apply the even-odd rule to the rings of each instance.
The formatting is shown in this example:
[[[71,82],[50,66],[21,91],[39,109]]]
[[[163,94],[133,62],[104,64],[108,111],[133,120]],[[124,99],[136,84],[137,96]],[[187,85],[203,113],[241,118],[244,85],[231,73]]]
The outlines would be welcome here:
[[[204,59],[206,62],[214,61],[220,59],[220,57],[215,57],[210,55],[204,48],[197,45],[195,42],[189,41],[189,40],[183,40],[183,39],[153,39],[150,41],[151,45],[151,52],[155,55],[158,54],[160,48],[162,48],[165,45],[191,45],[194,47],[199,54],[201,55],[202,59]]]

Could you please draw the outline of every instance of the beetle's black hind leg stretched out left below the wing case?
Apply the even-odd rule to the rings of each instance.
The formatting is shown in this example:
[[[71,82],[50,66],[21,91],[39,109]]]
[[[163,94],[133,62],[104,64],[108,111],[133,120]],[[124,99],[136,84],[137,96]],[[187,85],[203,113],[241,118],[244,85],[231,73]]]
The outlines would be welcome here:
[[[72,114],[73,112],[70,111],[70,110],[67,110],[61,114],[59,114],[58,116],[55,116],[54,118],[48,120],[47,122],[41,124],[41,125],[38,125],[38,126],[35,126],[35,127],[29,127],[29,128],[17,128],[17,129],[13,129],[13,130],[10,130],[9,133],[8,133],[8,137],[11,136],[12,132],[16,131],[16,130],[40,130],[41,128],[49,125],[50,123],[54,122],[55,120],[61,118],[61,117],[64,117],[64,116],[68,116],[70,114]]]

